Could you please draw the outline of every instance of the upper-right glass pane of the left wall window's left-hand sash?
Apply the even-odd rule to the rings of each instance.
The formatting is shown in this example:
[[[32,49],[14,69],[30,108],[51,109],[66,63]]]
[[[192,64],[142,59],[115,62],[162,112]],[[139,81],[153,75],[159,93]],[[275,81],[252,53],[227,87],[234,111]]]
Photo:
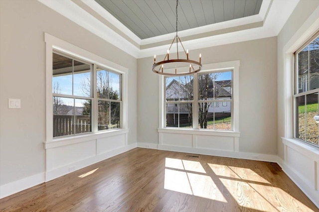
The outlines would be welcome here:
[[[74,60],[73,95],[91,97],[91,66]]]

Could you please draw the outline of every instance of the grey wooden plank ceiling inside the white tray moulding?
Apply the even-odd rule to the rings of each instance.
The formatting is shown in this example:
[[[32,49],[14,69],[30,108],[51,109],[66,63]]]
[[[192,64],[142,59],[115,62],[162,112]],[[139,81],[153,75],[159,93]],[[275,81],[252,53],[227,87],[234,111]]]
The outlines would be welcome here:
[[[95,0],[141,39],[176,30],[176,0]],[[259,13],[262,0],[179,0],[178,31]]]

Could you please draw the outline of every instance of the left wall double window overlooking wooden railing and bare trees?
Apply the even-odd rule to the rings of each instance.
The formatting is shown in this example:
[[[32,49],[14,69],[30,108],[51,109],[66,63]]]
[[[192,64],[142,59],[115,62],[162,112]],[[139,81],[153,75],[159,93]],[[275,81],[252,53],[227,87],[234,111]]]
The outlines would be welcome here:
[[[53,137],[120,128],[121,74],[52,55]]]

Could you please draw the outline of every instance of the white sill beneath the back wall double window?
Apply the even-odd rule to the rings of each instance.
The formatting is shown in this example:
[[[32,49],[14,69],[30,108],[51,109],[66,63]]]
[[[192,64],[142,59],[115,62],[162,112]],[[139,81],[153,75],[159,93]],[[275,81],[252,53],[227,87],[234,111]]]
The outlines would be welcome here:
[[[174,129],[174,128],[159,128],[158,132],[177,133],[177,134],[192,134],[192,135],[212,135],[225,137],[239,137],[240,132],[234,131],[212,131],[207,129]]]

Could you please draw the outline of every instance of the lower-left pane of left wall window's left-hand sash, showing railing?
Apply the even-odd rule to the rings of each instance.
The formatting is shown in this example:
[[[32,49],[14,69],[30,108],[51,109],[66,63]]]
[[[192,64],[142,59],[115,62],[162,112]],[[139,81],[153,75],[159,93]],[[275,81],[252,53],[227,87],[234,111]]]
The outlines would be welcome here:
[[[74,99],[53,97],[53,137],[72,135]]]

